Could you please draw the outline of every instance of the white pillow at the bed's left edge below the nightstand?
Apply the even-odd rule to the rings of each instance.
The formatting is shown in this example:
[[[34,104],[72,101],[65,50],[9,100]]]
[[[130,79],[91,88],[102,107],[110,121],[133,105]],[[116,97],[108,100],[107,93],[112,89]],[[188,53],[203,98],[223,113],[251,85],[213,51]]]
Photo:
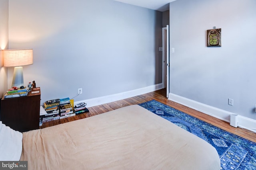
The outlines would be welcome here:
[[[22,133],[0,121],[0,161],[19,161],[22,152]]]

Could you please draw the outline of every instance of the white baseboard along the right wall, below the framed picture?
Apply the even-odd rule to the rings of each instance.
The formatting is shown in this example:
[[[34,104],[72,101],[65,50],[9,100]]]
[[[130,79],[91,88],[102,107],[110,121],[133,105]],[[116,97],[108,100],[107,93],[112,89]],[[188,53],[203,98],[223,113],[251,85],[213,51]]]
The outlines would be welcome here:
[[[232,112],[218,109],[216,107],[212,107],[212,106],[209,106],[206,104],[202,104],[200,102],[196,102],[194,100],[190,100],[188,98],[184,98],[182,96],[178,96],[178,95],[172,94],[172,93],[169,93],[168,100],[172,100],[172,101],[182,104],[184,106],[201,111],[208,115],[212,115],[213,117],[222,119],[226,122],[230,122],[230,115],[234,114]],[[242,128],[248,129],[250,131],[256,132],[256,120],[238,115],[238,127],[242,127]]]

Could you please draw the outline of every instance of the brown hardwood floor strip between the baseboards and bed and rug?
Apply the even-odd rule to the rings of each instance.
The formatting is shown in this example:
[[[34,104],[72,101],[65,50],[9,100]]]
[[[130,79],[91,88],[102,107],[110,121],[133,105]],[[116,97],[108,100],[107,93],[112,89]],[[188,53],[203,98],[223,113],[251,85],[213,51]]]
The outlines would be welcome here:
[[[74,120],[78,120],[78,119],[84,119],[86,117],[90,117],[90,116],[98,115],[98,114],[101,114],[101,113],[105,113],[107,111],[118,109],[120,107],[125,107],[125,106],[129,106],[129,105],[134,105],[134,104],[140,104],[140,103],[147,102],[147,101],[150,101],[150,100],[157,100],[158,102],[161,102],[163,104],[171,106],[175,109],[183,111],[184,113],[190,114],[194,117],[197,117],[198,119],[206,121],[206,122],[208,122],[212,125],[215,125],[215,126],[221,128],[221,129],[224,129],[226,131],[229,131],[230,133],[234,133],[234,134],[236,134],[238,136],[241,136],[245,139],[256,142],[256,133],[254,133],[252,131],[249,131],[247,129],[242,129],[240,127],[237,127],[237,128],[232,127],[226,121],[217,119],[215,117],[212,117],[212,116],[207,115],[205,113],[202,113],[200,111],[196,111],[196,110],[191,109],[189,107],[186,107],[186,106],[183,106],[183,105],[178,104],[176,102],[172,102],[172,101],[168,100],[166,98],[166,90],[165,89],[157,90],[155,92],[150,92],[150,93],[147,93],[147,94],[142,94],[140,96],[135,96],[135,97],[132,97],[132,98],[127,98],[127,99],[124,99],[124,100],[119,100],[119,101],[116,101],[116,102],[111,102],[111,103],[108,103],[108,104],[102,104],[102,105],[99,105],[99,106],[88,107],[88,109],[90,111],[88,113],[83,113],[83,114],[80,114],[80,115],[75,115],[75,116],[60,119],[60,120],[46,122],[46,123],[43,123],[43,125],[40,128],[50,127],[50,126],[58,125],[60,123],[66,123],[66,122],[74,121]]]

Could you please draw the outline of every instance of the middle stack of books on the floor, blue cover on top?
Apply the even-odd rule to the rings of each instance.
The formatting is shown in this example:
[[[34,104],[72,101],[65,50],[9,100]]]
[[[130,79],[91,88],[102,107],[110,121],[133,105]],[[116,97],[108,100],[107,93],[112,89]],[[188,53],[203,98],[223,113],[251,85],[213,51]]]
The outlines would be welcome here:
[[[60,99],[59,110],[60,119],[76,115],[73,113],[73,107],[70,104],[69,98]]]

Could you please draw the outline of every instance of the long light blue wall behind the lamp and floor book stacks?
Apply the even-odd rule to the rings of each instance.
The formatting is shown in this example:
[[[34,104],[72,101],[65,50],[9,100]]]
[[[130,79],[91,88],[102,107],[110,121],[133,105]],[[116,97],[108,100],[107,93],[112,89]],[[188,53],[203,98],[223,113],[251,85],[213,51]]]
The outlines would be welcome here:
[[[9,48],[34,50],[24,82],[42,102],[83,88],[79,101],[161,83],[161,27],[162,12],[113,0],[10,0]]]

